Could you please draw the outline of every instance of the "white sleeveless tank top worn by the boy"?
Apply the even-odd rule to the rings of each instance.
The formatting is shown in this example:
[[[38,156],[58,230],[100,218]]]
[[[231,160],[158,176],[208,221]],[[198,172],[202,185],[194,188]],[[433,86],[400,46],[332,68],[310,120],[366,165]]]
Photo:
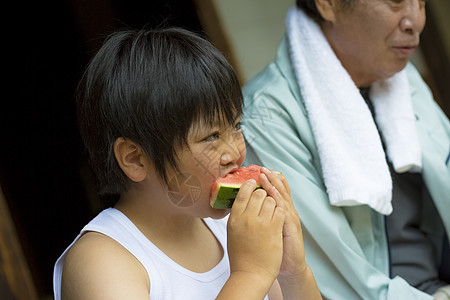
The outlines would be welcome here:
[[[205,273],[192,272],[170,259],[156,247],[119,210],[108,208],[87,224],[77,238],[86,231],[96,231],[116,240],[133,254],[144,266],[150,279],[150,298],[158,299],[214,299],[230,276],[227,253],[227,218],[204,219],[222,245],[224,256],[213,269]],[[66,253],[55,264],[53,291],[56,300],[61,299],[61,277]],[[267,299],[267,297],[266,297]]]

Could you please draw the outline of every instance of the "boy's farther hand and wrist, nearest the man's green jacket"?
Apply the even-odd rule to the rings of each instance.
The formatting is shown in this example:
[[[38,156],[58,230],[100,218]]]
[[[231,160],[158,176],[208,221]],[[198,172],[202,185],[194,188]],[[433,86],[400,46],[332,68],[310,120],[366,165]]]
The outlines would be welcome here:
[[[300,276],[307,268],[303,235],[297,210],[292,203],[286,178],[266,168],[262,168],[259,178],[262,188],[285,210],[283,226],[283,259],[279,275],[284,278]]]

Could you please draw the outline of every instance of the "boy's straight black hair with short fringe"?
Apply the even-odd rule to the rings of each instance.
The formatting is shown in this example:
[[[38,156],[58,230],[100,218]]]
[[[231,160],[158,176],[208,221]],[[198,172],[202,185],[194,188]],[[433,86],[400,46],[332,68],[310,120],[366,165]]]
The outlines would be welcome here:
[[[234,70],[207,40],[181,28],[111,34],[89,63],[78,88],[80,133],[100,195],[118,196],[129,178],[113,145],[137,143],[167,183],[177,150],[195,122],[234,124],[243,97]]]

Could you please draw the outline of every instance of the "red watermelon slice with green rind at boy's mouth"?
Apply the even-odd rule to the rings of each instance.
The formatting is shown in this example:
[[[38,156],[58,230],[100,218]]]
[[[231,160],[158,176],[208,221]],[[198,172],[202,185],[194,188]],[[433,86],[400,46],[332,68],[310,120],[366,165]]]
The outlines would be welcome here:
[[[225,177],[217,178],[216,182],[211,187],[210,205],[212,208],[227,209],[231,208],[234,199],[239,192],[241,185],[249,179],[256,181],[256,188],[259,186],[259,174],[261,168],[257,165],[249,165],[241,167],[239,170],[231,172]]]

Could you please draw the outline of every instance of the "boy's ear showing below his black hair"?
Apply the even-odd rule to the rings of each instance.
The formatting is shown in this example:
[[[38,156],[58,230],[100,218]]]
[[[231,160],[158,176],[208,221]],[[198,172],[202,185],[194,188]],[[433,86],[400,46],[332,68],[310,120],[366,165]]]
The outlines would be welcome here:
[[[147,176],[148,161],[141,147],[135,142],[118,138],[114,142],[114,155],[125,175],[134,182],[141,182]]]

